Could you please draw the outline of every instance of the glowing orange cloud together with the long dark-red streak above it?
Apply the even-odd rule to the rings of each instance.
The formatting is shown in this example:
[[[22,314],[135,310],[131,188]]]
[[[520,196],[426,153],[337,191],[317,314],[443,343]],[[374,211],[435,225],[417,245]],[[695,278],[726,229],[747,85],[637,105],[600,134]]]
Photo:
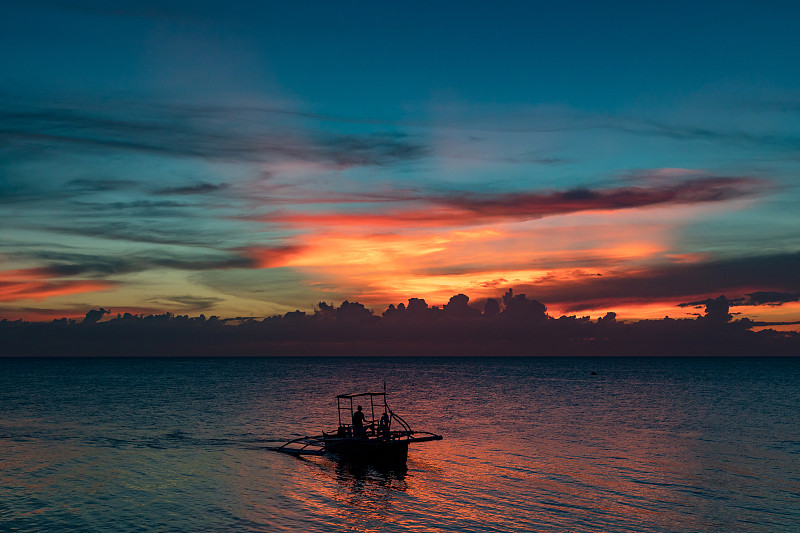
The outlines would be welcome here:
[[[640,318],[663,318],[683,315],[673,300],[697,290],[680,292],[682,280],[667,271],[708,260],[676,250],[676,229],[709,204],[751,197],[759,184],[704,177],[520,194],[412,198],[404,191],[382,204],[390,209],[364,200],[355,203],[368,211],[260,217],[292,231],[291,244],[245,253],[261,268],[294,269],[315,290],[325,286],[376,307],[408,297],[439,305],[459,292],[481,300],[519,288],[554,312],[603,314],[620,304]],[[663,289],[662,274],[671,276]]]

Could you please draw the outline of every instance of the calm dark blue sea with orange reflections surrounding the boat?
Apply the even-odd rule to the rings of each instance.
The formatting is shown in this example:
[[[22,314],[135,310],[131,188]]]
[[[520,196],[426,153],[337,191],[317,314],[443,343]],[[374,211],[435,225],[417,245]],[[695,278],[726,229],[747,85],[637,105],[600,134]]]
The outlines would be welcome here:
[[[407,469],[265,449],[384,380]],[[798,406],[800,358],[5,359],[0,530],[796,532]]]

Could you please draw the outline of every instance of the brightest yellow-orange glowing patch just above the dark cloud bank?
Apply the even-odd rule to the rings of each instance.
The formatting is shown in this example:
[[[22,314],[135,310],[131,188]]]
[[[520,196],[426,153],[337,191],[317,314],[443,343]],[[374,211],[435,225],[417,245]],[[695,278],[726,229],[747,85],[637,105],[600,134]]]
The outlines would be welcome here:
[[[349,298],[385,305],[410,296],[440,304],[459,292],[482,299],[518,285],[570,283],[669,250],[666,226],[596,224],[588,234],[585,222],[562,217],[561,227],[524,222],[403,233],[336,228],[300,235],[295,246],[246,253],[262,268],[305,271]]]

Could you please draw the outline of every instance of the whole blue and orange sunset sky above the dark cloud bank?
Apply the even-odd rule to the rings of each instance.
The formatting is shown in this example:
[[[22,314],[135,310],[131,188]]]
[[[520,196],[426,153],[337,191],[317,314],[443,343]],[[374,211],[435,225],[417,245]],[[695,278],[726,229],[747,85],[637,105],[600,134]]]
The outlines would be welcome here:
[[[0,319],[800,320],[800,4],[0,4]]]

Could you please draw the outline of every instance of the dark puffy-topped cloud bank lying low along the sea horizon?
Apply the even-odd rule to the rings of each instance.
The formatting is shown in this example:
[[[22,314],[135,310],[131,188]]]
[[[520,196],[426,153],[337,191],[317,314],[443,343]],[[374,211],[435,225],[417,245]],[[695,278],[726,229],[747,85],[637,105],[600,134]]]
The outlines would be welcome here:
[[[778,305],[797,295],[753,293],[750,303]],[[263,320],[113,315],[90,310],[82,321],[0,321],[2,356],[283,355],[798,355],[800,334],[734,320],[724,296],[688,302],[696,319],[624,323],[547,314],[544,304],[509,290],[482,309],[456,295],[441,308],[411,298],[381,315],[357,302],[324,302]],[[704,308],[704,309],[703,309]],[[109,317],[112,317],[109,319]]]

